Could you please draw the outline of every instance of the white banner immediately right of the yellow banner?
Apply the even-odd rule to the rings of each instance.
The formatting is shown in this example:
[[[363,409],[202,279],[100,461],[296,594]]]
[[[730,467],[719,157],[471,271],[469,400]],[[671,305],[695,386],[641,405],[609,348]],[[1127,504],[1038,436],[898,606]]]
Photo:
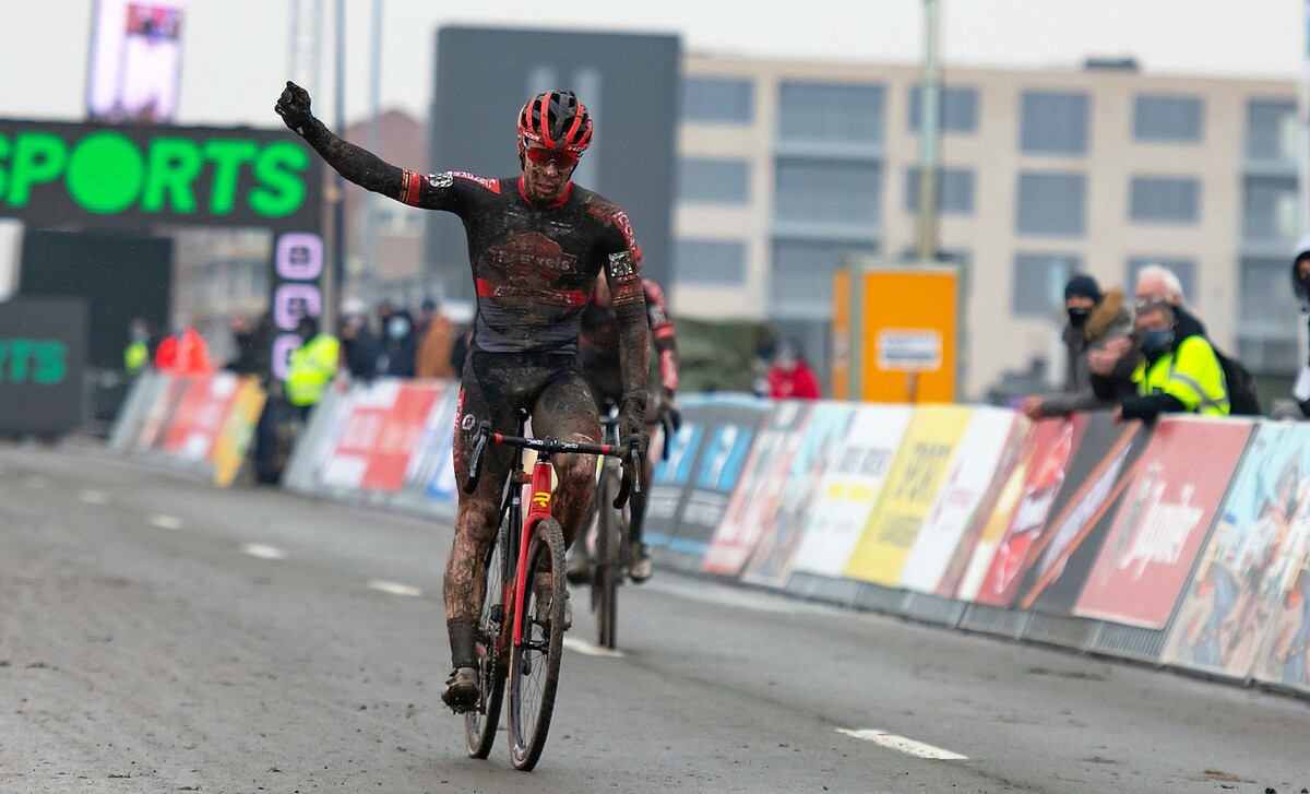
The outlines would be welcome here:
[[[1014,411],[992,406],[973,409],[964,435],[947,464],[942,487],[905,559],[901,587],[937,592],[979,506],[992,490],[993,482],[1005,474],[1002,457],[1015,423]]]

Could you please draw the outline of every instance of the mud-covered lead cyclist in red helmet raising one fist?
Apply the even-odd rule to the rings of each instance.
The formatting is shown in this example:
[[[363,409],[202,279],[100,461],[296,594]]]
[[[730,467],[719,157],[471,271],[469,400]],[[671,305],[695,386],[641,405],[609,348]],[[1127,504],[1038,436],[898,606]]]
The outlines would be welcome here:
[[[570,180],[592,135],[591,114],[572,92],[546,92],[523,106],[517,135],[523,173],[499,180],[460,172],[423,177],[390,165],[329,131],[310,113],[309,93],[290,81],[275,110],[346,180],[406,204],[453,212],[464,221],[477,317],[456,418],[460,502],[444,584],[455,670],[441,700],[466,711],[479,697],[474,633],[483,566],[514,455],[508,447],[487,448],[478,489],[465,494],[478,425],[490,419],[494,432],[512,435],[524,409],[540,436],[600,443],[578,333],[587,296],[604,270],[620,326],[620,430],[622,438],[645,438],[650,331],[638,275],[641,248],[622,208]],[[554,518],[569,544],[587,519],[596,461],[570,455],[554,463]]]

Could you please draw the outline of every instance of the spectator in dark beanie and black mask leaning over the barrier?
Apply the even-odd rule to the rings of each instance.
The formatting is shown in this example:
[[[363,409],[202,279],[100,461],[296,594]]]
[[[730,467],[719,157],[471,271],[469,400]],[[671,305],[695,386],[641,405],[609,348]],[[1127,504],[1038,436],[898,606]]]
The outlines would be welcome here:
[[[1128,337],[1133,331],[1133,317],[1124,308],[1121,290],[1104,292],[1090,275],[1076,275],[1065,284],[1065,343],[1064,388],[1052,394],[1034,394],[1024,400],[1023,413],[1031,418],[1053,417],[1079,410],[1110,409],[1114,400],[1102,400],[1091,388],[1091,352],[1103,349],[1107,339]],[[1121,377],[1123,393],[1132,393],[1133,384]],[[1116,394],[1123,396],[1123,394]]]

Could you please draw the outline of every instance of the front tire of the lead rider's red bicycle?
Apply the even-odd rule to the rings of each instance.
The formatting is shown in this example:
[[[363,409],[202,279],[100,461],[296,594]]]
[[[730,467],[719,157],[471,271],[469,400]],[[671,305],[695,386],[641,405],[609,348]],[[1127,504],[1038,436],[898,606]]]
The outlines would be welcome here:
[[[565,536],[559,523],[542,519],[528,545],[527,582],[521,618],[521,641],[510,656],[510,761],[515,769],[529,772],[541,759],[550,732],[550,717],[559,685],[559,662],[563,656],[565,601]],[[549,577],[549,603],[540,605],[534,587],[538,573]]]

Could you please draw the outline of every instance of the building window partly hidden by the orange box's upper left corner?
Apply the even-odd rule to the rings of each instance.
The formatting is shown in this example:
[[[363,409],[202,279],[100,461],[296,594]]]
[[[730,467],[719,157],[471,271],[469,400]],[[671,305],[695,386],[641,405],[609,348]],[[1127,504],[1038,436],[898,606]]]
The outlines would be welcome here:
[[[853,253],[876,253],[871,245],[774,240],[769,279],[770,316],[832,317],[832,278]]]

